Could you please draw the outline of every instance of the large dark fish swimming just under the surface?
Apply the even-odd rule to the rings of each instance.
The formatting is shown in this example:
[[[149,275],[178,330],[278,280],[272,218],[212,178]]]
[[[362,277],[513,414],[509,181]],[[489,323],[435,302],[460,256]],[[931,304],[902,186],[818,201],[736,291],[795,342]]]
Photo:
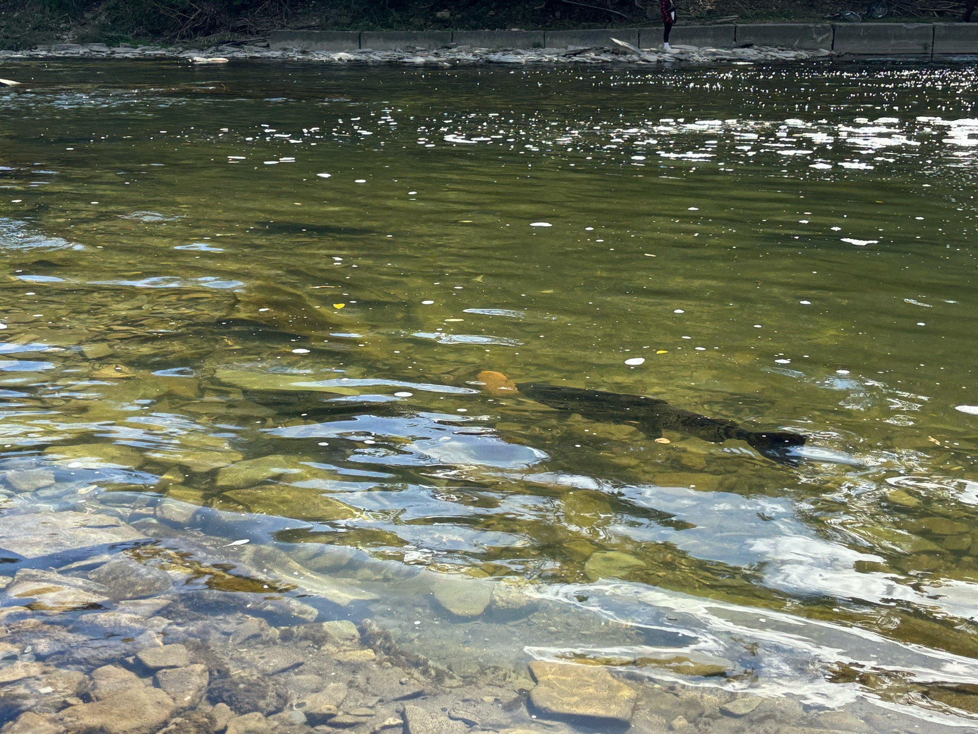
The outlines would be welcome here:
[[[742,440],[769,459],[788,464],[796,461],[790,455],[790,450],[803,445],[807,437],[784,431],[748,431],[733,421],[707,418],[647,395],[583,390],[546,383],[516,383],[515,388],[530,399],[557,410],[579,413],[593,421],[634,425],[649,438],[658,438],[662,436],[663,429],[668,429],[712,443]]]

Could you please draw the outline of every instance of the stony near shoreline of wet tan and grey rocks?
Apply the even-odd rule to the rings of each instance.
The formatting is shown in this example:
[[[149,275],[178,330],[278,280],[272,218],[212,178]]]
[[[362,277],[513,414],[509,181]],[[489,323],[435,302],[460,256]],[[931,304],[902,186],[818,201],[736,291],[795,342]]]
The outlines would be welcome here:
[[[882,710],[806,709],[602,665],[480,664],[483,644],[490,660],[505,647],[508,625],[555,642],[595,632],[624,645],[634,632],[589,630],[519,585],[413,573],[345,547],[234,540],[261,519],[57,482],[62,469],[4,474],[3,734],[911,730]],[[429,591],[404,605],[377,593],[380,580]],[[429,628],[447,664],[413,644]],[[724,669],[674,662],[706,678]]]

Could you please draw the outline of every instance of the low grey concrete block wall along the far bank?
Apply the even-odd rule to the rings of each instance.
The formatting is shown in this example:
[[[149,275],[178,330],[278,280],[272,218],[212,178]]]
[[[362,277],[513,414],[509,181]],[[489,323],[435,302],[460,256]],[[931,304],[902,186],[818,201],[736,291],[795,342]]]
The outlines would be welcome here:
[[[662,44],[662,26],[588,30],[425,30],[330,31],[276,30],[273,49],[310,51],[391,51],[433,49],[450,43],[479,48],[564,48],[613,46],[619,38],[642,48]],[[677,25],[670,41],[689,46],[732,48],[746,43],[799,49],[832,49],[845,54],[889,56],[978,55],[978,23],[741,23],[738,25]]]

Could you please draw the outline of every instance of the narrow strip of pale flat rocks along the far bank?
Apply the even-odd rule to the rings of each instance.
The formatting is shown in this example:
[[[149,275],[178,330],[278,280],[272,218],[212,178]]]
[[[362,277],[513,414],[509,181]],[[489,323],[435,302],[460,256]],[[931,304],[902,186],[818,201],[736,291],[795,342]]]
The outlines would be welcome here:
[[[339,64],[417,64],[448,67],[458,64],[638,64],[656,65],[665,62],[764,62],[802,61],[832,56],[831,51],[805,51],[769,46],[720,49],[707,46],[675,44],[671,51],[642,50],[636,53],[625,48],[568,47],[541,49],[495,50],[474,46],[452,45],[439,49],[405,49],[398,51],[306,51],[276,50],[268,45],[223,45],[209,48],[182,46],[132,46],[103,43],[58,43],[38,46],[30,51],[0,51],[0,60],[26,59],[168,59],[195,64],[222,63],[237,59],[283,59],[288,61],[333,62]]]

